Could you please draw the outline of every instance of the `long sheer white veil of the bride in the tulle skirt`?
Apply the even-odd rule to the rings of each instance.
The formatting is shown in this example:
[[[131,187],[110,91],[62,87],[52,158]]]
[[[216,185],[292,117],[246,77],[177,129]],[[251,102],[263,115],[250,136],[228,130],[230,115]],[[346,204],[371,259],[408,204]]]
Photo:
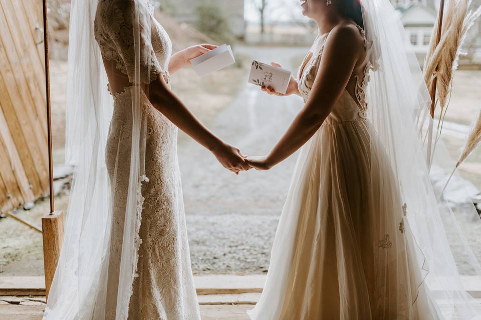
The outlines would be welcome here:
[[[431,100],[398,13],[388,0],[361,3],[366,36],[372,43],[367,92],[371,135],[382,141],[399,182],[405,227],[412,232],[411,251],[423,280],[419,290],[426,285],[446,319],[481,318],[464,287],[468,281],[481,285],[479,257],[471,248],[479,234],[473,231],[481,230],[481,221],[467,191],[466,203],[451,209],[431,179],[430,170],[444,172],[447,179],[454,163],[440,139],[431,169],[427,165],[424,137],[432,121]]]

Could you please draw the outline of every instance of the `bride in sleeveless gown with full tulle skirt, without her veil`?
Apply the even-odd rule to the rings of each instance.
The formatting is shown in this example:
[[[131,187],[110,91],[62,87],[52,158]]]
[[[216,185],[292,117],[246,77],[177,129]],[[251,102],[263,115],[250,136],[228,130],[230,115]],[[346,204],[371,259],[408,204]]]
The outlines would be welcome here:
[[[406,218],[410,205],[369,114],[367,86],[379,57],[361,3],[301,5],[319,35],[285,95],[300,95],[305,106],[269,155],[248,159],[266,170],[302,146],[264,291],[248,313],[259,320],[442,318]]]

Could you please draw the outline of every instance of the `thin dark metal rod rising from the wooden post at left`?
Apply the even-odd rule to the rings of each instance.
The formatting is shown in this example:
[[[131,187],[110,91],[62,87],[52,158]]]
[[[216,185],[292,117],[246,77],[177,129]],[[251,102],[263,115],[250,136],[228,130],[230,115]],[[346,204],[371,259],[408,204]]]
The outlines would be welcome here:
[[[47,0],[43,0],[44,11],[44,55],[45,55],[45,84],[47,97],[47,139],[49,152],[49,187],[50,187],[50,214],[55,212],[54,202],[54,173],[52,159],[52,111],[50,105],[50,65],[49,65],[49,24],[48,24],[48,8]]]

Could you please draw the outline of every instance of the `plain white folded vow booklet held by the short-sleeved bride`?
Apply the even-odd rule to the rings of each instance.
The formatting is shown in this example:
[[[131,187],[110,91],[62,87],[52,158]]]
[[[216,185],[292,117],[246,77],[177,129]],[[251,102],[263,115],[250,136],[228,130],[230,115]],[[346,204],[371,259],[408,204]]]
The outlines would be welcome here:
[[[235,63],[230,45],[222,44],[209,52],[190,60],[192,68],[199,76],[206,75]]]

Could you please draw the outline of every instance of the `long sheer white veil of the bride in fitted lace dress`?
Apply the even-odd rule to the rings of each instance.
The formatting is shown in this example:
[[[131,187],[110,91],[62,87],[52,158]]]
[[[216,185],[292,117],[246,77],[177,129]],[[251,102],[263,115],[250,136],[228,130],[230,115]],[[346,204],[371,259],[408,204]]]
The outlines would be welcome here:
[[[60,261],[55,273],[44,319],[126,319],[132,282],[136,276],[138,229],[142,208],[141,183],[144,177],[145,132],[141,125],[141,94],[145,90],[145,69],[153,52],[141,50],[150,41],[150,10],[147,1],[124,1],[132,25],[115,25],[126,12],[112,7],[107,16],[114,27],[132,43],[134,65],[128,70],[132,92],[132,139],[130,171],[113,172],[106,166],[105,148],[112,118],[113,99],[107,90],[107,74],[94,35],[97,6],[102,0],[72,0],[67,82],[66,161],[73,164],[72,183]],[[106,4],[108,5],[108,3]],[[117,11],[116,11],[117,9]],[[131,16],[130,16],[131,14]],[[142,27],[141,27],[142,26]],[[128,39],[128,38],[131,39]],[[107,57],[108,58],[108,57]],[[120,73],[120,72],[119,72]],[[149,74],[149,73],[147,73]],[[113,83],[110,83],[113,84]],[[118,86],[118,83],[117,83]],[[123,148],[125,151],[125,148]],[[123,154],[123,157],[125,154]],[[118,154],[117,154],[118,157]],[[125,157],[124,157],[125,158]],[[128,185],[119,185],[120,175]],[[116,191],[125,192],[121,257],[112,257],[112,210]],[[116,205],[119,205],[117,203]],[[107,295],[110,258],[120,259],[117,294]]]

